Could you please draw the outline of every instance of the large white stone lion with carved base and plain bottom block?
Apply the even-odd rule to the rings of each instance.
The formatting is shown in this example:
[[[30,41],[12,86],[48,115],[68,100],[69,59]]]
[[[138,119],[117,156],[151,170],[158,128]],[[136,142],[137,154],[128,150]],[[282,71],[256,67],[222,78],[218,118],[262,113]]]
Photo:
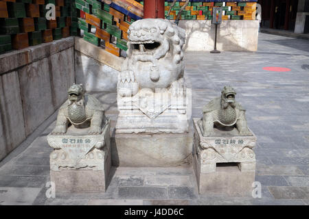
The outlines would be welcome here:
[[[115,166],[179,166],[190,155],[184,42],[185,31],[164,19],[130,25],[127,57],[117,82]]]

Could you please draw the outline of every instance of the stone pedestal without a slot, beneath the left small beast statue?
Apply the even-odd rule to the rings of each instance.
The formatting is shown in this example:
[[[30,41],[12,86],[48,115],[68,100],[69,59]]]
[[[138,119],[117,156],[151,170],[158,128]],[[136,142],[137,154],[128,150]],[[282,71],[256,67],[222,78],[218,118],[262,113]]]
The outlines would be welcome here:
[[[105,192],[111,168],[110,120],[99,135],[89,135],[89,129],[71,126],[64,135],[47,136],[55,149],[49,160],[56,192]]]

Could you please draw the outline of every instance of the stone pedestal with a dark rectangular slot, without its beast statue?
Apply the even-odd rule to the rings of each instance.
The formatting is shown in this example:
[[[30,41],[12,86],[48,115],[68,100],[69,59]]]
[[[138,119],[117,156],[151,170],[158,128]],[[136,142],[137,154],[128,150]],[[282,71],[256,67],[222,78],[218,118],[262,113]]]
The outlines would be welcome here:
[[[203,136],[203,121],[194,118],[194,172],[200,194],[249,196],[255,181],[256,137],[233,136],[215,129],[215,136]]]

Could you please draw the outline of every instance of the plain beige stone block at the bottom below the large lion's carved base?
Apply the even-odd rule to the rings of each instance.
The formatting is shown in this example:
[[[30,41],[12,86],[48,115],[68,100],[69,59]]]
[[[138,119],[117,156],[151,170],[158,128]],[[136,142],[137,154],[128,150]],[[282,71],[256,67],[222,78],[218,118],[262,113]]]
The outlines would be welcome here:
[[[181,166],[192,160],[192,133],[115,134],[113,166]]]

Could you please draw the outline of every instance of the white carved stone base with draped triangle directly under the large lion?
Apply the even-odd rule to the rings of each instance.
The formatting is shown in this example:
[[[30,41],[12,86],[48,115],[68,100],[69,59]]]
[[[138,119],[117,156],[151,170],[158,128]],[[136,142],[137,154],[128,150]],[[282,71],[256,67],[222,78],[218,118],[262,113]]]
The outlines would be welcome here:
[[[178,83],[177,83],[178,84]],[[183,86],[183,82],[181,83]],[[117,96],[116,133],[185,133],[189,129],[191,90],[140,90],[135,96]],[[184,94],[186,93],[186,95]]]

